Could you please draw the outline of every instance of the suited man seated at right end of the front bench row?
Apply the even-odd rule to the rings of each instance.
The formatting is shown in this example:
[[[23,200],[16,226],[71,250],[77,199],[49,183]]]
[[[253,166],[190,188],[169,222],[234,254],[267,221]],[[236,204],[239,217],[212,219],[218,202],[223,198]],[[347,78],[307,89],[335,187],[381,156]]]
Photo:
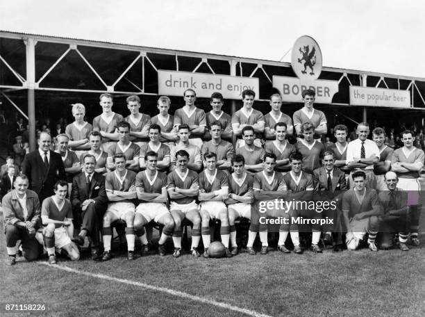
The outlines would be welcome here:
[[[315,181],[315,200],[316,201],[333,201],[336,208],[327,208],[323,211],[323,218],[333,219],[333,225],[324,225],[326,232],[324,241],[331,241],[333,236],[333,250],[339,251],[342,245],[342,228],[340,221],[341,204],[338,195],[341,190],[347,190],[347,181],[345,181],[345,173],[333,165],[335,160],[333,152],[325,151],[322,158],[322,168],[316,168],[313,171],[313,179]]]

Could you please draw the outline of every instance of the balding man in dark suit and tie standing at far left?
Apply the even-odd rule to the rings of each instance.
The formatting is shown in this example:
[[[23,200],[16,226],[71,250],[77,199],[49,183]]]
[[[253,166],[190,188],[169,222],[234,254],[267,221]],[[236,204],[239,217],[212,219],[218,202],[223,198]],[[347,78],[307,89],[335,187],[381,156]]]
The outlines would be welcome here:
[[[65,179],[65,168],[60,154],[51,151],[51,136],[40,133],[38,149],[28,153],[22,162],[22,174],[29,179],[31,190],[37,193],[40,202],[54,195],[56,181]]]

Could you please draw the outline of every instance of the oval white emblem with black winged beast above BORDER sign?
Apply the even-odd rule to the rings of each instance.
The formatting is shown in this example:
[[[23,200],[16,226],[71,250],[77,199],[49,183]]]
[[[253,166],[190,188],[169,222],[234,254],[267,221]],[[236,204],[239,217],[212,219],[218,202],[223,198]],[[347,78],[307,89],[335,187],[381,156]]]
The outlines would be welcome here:
[[[322,72],[322,51],[319,44],[308,35],[298,38],[292,47],[291,65],[299,79],[317,79]]]

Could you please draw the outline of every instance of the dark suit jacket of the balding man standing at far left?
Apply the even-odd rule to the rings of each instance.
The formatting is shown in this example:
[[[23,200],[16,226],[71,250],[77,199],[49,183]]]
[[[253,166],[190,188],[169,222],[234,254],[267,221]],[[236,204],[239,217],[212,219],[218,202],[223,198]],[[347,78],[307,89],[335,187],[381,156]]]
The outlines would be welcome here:
[[[56,181],[66,179],[60,154],[50,151],[49,170],[47,170],[38,149],[26,154],[22,162],[22,174],[26,174],[29,188],[38,194],[40,201],[54,194],[53,186]]]

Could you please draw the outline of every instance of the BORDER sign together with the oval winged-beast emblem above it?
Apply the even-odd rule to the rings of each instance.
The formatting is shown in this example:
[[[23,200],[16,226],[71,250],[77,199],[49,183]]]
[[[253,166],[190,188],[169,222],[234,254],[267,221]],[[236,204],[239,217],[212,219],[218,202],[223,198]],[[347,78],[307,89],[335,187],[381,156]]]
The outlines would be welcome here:
[[[315,102],[332,103],[333,95],[338,92],[338,81],[317,80],[322,72],[322,51],[313,38],[304,35],[295,42],[291,65],[298,78],[273,76],[273,86],[281,92],[283,101],[301,102],[301,92],[313,89]]]

